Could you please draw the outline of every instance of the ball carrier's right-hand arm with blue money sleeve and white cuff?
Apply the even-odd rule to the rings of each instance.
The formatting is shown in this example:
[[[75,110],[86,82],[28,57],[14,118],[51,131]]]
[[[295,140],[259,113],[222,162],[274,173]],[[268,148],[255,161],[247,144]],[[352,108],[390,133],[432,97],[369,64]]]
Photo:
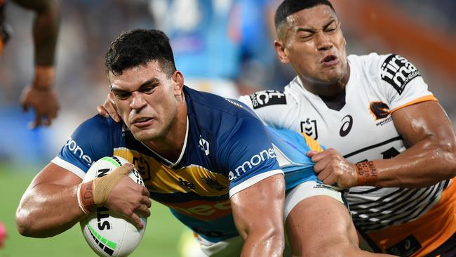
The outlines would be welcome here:
[[[220,142],[218,165],[227,172],[234,223],[245,240],[241,256],[282,256],[285,180],[267,131],[246,114]]]

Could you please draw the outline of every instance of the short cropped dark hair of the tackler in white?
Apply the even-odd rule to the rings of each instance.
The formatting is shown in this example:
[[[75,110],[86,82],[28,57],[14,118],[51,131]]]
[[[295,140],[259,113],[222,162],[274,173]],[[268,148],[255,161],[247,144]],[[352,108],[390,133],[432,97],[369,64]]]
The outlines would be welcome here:
[[[277,8],[276,15],[274,16],[274,25],[276,30],[289,15],[297,13],[301,10],[318,6],[319,4],[325,4],[329,6],[335,12],[333,5],[328,0],[285,0]]]

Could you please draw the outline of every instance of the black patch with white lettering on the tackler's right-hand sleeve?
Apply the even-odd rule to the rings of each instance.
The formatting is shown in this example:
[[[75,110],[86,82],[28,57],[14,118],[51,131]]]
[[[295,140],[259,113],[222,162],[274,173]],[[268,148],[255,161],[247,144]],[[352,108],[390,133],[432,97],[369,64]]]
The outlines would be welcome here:
[[[401,55],[389,55],[380,68],[382,80],[393,86],[399,95],[404,91],[408,82],[420,76],[421,74],[417,68]]]

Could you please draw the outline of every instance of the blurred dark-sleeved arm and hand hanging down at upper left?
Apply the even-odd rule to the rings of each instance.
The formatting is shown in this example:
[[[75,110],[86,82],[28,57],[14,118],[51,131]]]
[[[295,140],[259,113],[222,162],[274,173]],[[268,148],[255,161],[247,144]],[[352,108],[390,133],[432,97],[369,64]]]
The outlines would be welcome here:
[[[13,0],[22,8],[34,11],[33,42],[35,73],[31,86],[22,91],[21,103],[25,111],[33,107],[36,117],[32,127],[50,125],[57,117],[59,104],[54,91],[55,48],[60,26],[58,0]]]

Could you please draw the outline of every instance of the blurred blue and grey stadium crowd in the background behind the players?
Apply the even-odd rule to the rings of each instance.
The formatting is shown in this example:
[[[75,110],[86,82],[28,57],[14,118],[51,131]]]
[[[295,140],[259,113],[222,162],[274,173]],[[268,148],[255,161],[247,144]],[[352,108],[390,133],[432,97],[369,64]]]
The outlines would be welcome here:
[[[342,6],[346,1],[333,3]],[[453,39],[455,3],[389,1],[391,8]],[[96,105],[108,92],[105,51],[109,42],[128,29],[157,28],[166,32],[177,69],[182,70],[189,86],[231,98],[266,88],[281,89],[293,72],[279,63],[272,43],[274,11],[279,4],[280,0],[62,1],[55,82],[61,111],[50,128],[29,130],[27,122],[33,115],[22,112],[18,99],[34,68],[33,13],[8,3],[6,20],[13,34],[0,58],[0,133],[4,135],[0,137],[0,163],[47,163],[74,126],[96,114]],[[349,16],[340,15],[342,25]],[[360,39],[356,29],[344,27],[348,53],[394,51],[381,37]],[[401,49],[394,52],[401,54]],[[455,88],[453,80],[428,69],[426,60],[409,59],[423,67],[420,71],[425,81],[455,121],[456,105],[448,94]]]

